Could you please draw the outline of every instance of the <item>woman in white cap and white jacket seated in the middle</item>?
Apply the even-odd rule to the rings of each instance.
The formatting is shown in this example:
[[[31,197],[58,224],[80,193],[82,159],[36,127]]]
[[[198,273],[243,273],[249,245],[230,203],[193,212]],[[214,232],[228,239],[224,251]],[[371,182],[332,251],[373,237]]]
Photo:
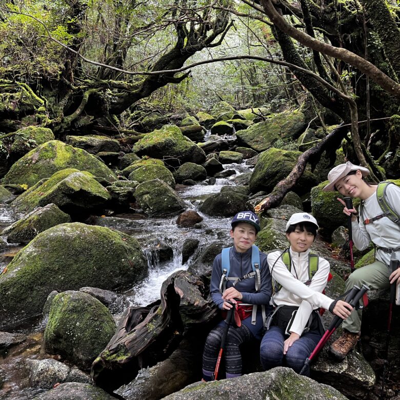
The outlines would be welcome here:
[[[275,312],[267,323],[260,348],[265,369],[285,365],[297,373],[301,371],[324,333],[319,307],[341,318],[350,314],[349,304],[333,301],[322,293],[328,281],[329,263],[310,254],[317,229],[311,214],[293,214],[286,225],[289,249],[268,255],[271,276],[277,284],[273,284],[275,293],[271,298]],[[309,368],[304,374],[309,375]]]

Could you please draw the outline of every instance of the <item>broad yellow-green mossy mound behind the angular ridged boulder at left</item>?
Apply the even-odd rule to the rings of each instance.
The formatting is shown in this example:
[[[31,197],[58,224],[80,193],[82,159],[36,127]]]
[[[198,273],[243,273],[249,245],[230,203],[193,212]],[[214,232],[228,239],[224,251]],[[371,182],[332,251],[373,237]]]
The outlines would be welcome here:
[[[18,159],[3,178],[3,183],[30,187],[43,178],[49,178],[54,172],[66,168],[88,171],[110,182],[117,180],[116,175],[94,155],[63,142],[50,141]]]

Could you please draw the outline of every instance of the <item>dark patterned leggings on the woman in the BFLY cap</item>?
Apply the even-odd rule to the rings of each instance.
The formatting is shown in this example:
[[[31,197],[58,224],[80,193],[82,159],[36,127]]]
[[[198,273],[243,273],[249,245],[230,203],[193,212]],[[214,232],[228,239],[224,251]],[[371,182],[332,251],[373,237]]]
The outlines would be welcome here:
[[[214,369],[221,349],[221,338],[225,329],[225,323],[217,325],[207,336],[203,352],[203,379],[212,381]],[[225,342],[225,368],[226,377],[233,378],[242,375],[242,355],[239,345],[254,339],[249,328],[242,324],[240,328],[229,327]]]

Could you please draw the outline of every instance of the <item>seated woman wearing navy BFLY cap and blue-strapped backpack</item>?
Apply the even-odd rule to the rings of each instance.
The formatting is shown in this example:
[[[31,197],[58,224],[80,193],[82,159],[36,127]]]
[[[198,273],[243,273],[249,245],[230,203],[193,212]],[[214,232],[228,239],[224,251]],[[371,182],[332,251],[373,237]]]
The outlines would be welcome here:
[[[224,249],[215,257],[210,284],[210,294],[219,309],[229,310],[233,307],[231,303],[242,302],[238,310],[238,314],[242,314],[241,319],[243,318],[241,326],[230,327],[226,339],[227,378],[242,374],[239,345],[254,338],[261,339],[271,297],[267,256],[253,246],[260,230],[257,216],[251,211],[238,212],[233,217],[231,226],[233,246]],[[225,327],[225,322],[221,321],[206,339],[203,353],[204,381],[214,380],[215,365]]]

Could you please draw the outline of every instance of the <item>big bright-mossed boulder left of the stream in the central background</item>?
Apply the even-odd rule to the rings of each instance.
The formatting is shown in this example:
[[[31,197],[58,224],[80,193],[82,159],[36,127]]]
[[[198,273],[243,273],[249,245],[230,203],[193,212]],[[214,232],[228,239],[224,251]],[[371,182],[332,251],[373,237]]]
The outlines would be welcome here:
[[[133,146],[139,155],[164,159],[168,165],[178,166],[187,161],[201,164],[206,154],[195,143],[189,141],[176,125],[164,125],[148,133]]]

